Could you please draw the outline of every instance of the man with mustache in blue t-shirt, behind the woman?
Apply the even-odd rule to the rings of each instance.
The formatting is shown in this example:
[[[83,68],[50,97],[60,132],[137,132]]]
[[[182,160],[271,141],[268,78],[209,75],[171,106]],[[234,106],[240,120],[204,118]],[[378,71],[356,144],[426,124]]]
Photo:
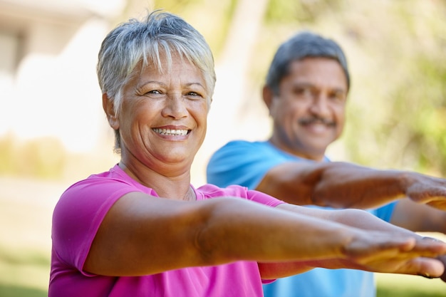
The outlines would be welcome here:
[[[328,160],[328,145],[343,131],[349,88],[338,43],[311,32],[291,37],[276,52],[263,89],[271,137],[224,145],[209,161],[207,182],[240,184],[309,207],[367,209],[412,231],[446,233],[446,179]],[[313,269],[264,291],[266,297],[376,295],[373,273],[350,269]]]

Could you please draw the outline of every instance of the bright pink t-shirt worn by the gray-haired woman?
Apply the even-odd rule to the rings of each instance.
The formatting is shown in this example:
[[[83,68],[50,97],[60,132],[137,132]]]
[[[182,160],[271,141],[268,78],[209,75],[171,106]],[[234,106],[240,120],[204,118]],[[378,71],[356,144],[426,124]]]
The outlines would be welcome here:
[[[259,268],[254,261],[190,267],[147,276],[98,276],[83,271],[96,232],[110,207],[124,194],[150,188],[135,182],[115,165],[69,187],[53,213],[49,297],[256,297],[263,296]],[[232,196],[271,207],[283,203],[245,187],[225,189],[206,184],[195,189],[197,199]],[[175,255],[172,255],[172,257]]]

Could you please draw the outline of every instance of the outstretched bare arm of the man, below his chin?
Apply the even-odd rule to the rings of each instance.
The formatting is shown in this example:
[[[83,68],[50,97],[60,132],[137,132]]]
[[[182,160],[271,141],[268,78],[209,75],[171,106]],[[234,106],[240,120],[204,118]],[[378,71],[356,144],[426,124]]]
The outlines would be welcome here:
[[[287,162],[266,173],[256,190],[298,205],[368,209],[408,197],[446,210],[446,179],[375,170],[348,162]]]

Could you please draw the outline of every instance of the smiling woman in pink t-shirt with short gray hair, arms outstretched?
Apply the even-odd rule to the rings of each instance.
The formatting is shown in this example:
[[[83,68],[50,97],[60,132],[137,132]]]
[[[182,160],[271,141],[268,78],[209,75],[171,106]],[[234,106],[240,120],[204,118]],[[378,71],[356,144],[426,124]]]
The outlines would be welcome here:
[[[50,297],[263,296],[313,269],[440,276],[446,244],[359,210],[321,211],[190,184],[215,84],[212,53],[155,11],[105,37],[98,78],[120,162],[66,189],[53,212]]]

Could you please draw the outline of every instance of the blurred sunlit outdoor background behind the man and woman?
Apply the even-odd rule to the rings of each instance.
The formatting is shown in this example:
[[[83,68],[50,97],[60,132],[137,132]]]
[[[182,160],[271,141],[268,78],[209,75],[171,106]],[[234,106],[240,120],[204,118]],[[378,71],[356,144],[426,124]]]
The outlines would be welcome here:
[[[346,130],[329,157],[446,176],[445,0],[0,0],[0,296],[47,296],[58,197],[118,162],[96,58],[111,28],[147,9],[179,14],[214,52],[195,185],[227,141],[268,137],[267,68],[305,29],[341,43],[351,70]],[[446,296],[446,283],[378,274],[378,296]]]

